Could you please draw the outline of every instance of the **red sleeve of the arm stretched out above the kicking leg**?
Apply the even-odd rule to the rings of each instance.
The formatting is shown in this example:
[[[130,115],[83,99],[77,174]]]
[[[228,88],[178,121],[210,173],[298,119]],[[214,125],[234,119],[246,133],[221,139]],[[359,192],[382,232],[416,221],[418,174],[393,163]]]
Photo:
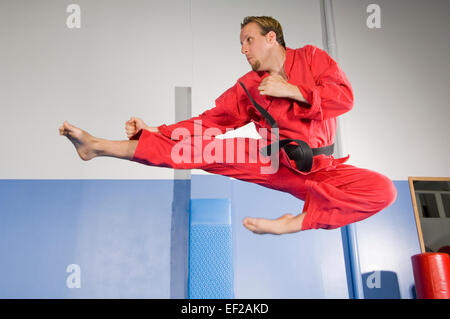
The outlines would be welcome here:
[[[223,134],[227,128],[236,129],[250,121],[245,105],[240,104],[238,101],[237,84],[219,96],[215,101],[215,105],[214,108],[203,112],[199,116],[172,125],[163,124],[158,127],[158,130],[162,134],[171,137],[173,130],[176,128],[183,127],[188,129],[191,134],[194,134],[195,125],[201,125],[203,130],[214,127],[218,128]]]

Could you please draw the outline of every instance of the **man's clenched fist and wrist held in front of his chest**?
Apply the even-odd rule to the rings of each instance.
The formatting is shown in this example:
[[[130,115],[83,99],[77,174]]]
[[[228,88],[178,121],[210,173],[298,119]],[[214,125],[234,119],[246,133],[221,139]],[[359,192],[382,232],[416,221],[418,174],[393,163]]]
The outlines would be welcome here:
[[[307,102],[295,85],[288,83],[281,75],[269,75],[261,81],[258,87],[261,95],[269,95],[273,97],[285,97],[300,102]]]

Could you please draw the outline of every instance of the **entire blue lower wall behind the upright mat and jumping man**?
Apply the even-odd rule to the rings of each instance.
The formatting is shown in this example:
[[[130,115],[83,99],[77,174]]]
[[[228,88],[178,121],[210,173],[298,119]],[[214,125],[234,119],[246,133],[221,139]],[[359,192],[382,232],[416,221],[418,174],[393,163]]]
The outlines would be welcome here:
[[[186,203],[195,197],[231,200],[236,298],[352,296],[339,229],[276,236],[242,225],[298,214],[302,201],[223,176],[194,175],[191,185],[189,194],[189,181],[1,180],[0,298],[187,296]],[[420,245],[409,185],[395,185],[392,206],[355,224],[366,298],[414,297],[410,257]],[[79,289],[66,286],[69,264],[81,267]],[[374,271],[380,288],[367,286]]]

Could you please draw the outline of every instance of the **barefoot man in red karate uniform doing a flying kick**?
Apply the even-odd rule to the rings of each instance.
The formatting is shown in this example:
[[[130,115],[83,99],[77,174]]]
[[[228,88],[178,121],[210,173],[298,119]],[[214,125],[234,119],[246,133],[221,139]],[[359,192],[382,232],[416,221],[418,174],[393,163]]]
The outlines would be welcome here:
[[[271,128],[240,83],[276,121],[280,139],[302,140],[313,149],[334,143],[336,117],[353,107],[351,85],[336,62],[312,45],[287,48],[275,19],[246,17],[240,42],[252,71],[225,91],[214,108],[199,116],[158,127],[132,117],[126,122],[128,141],[96,138],[67,122],[60,127],[60,134],[72,141],[83,160],[112,156],[145,165],[203,169],[288,192],[305,201],[303,212],[297,215],[285,214],[273,220],[245,218],[243,225],[258,234],[334,229],[363,220],[393,203],[397,192],[392,181],[344,164],[349,156],[335,159],[332,155],[316,155],[312,168],[303,171],[280,149],[276,169],[262,173],[267,161],[264,156],[252,155],[252,139],[234,138],[233,143],[222,147],[224,140],[215,136],[229,129],[250,122],[259,130]],[[176,156],[180,149],[184,160]],[[222,160],[211,161],[211,157],[217,159],[216,155],[223,155]],[[245,161],[236,160],[236,156]]]

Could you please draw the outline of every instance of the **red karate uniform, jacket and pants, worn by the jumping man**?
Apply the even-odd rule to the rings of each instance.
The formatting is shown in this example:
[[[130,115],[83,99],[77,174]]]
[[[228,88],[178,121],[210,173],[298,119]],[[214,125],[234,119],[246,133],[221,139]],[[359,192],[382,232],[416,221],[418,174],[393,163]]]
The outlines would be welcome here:
[[[284,71],[288,82],[299,88],[309,104],[260,95],[258,86],[269,74],[251,71],[225,91],[214,108],[189,120],[163,124],[158,127],[159,133],[142,130],[135,137],[139,141],[132,160],[175,169],[203,169],[288,192],[305,201],[303,211],[307,214],[302,230],[342,227],[392,204],[397,195],[392,181],[377,172],[344,164],[349,156],[315,156],[311,171],[305,173],[281,149],[278,170],[262,174],[261,168],[269,164],[249,151],[257,140],[215,138],[249,122],[257,129],[266,128],[270,134],[270,125],[252,105],[239,85],[241,81],[278,123],[280,139],[300,139],[312,148],[333,144],[336,117],[353,107],[352,87],[344,72],[324,50],[312,45],[286,48]],[[177,152],[173,150],[181,148],[189,161],[174,160]],[[205,153],[212,155],[212,149],[223,160],[211,162],[211,156],[205,158]],[[244,163],[239,162],[239,156],[245,157]]]

